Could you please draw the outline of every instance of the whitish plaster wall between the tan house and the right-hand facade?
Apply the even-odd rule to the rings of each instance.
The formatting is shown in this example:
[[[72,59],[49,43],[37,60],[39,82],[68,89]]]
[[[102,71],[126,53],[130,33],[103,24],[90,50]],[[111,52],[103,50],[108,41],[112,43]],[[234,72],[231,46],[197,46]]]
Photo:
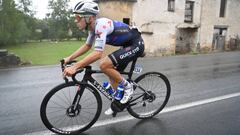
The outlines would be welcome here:
[[[174,12],[168,11],[167,0],[138,0],[134,4],[133,21],[143,33],[148,54],[154,56],[175,54],[178,38],[177,26],[184,23],[185,1],[175,0]],[[201,1],[192,1],[195,2],[193,22],[195,25],[199,25]],[[197,40],[198,38],[194,37],[193,39]],[[197,41],[192,42],[196,43]],[[196,45],[191,46],[195,47]]]

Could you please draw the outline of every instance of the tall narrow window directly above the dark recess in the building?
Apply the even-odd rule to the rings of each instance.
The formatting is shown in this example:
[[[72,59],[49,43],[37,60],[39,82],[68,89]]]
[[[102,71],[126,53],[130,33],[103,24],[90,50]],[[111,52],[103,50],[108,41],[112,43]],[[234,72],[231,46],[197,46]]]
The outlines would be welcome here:
[[[186,1],[184,22],[193,22],[193,8],[194,8],[194,2]]]

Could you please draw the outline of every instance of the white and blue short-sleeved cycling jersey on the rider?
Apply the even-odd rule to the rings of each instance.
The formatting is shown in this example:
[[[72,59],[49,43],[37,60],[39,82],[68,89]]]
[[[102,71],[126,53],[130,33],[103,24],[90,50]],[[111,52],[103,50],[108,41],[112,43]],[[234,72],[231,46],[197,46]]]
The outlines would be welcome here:
[[[86,44],[93,45],[95,41],[95,50],[103,51],[105,44],[113,46],[127,46],[128,42],[133,40],[138,33],[125,23],[100,18],[96,20],[94,31],[89,31]]]

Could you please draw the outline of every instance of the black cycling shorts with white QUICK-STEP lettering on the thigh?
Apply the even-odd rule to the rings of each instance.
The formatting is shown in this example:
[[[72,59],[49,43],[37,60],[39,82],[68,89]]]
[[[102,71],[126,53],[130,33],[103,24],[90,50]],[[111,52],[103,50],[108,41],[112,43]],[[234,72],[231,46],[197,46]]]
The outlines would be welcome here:
[[[131,41],[128,46],[109,54],[113,65],[118,71],[123,71],[129,62],[140,57],[144,52],[144,41],[141,36]]]

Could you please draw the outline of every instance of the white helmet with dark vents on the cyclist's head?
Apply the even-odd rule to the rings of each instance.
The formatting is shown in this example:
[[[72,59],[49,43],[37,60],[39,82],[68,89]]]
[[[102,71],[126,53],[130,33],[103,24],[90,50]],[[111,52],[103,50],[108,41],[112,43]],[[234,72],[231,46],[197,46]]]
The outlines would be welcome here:
[[[83,16],[97,15],[99,13],[99,7],[93,0],[81,0],[74,7],[73,13]]]

